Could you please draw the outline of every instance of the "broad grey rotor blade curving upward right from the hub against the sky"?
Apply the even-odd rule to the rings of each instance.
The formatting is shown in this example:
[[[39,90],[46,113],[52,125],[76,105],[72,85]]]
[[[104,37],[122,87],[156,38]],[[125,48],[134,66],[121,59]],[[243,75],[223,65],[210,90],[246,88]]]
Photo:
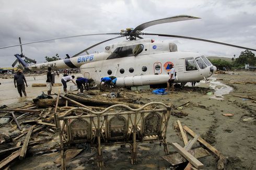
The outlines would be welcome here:
[[[191,20],[191,19],[200,19],[200,18],[189,16],[189,15],[178,15],[178,16],[174,16],[174,17],[157,19],[154,21],[142,23],[141,25],[137,26],[132,32],[142,31],[147,27],[158,25],[161,23],[177,22],[177,21],[184,21],[184,20]]]

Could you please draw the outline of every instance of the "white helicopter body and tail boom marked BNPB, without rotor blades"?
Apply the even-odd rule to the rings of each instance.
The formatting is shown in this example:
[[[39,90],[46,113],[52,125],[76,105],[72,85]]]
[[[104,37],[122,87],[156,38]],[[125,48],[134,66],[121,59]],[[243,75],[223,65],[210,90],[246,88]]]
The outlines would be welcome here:
[[[166,83],[170,64],[177,72],[174,82],[200,81],[216,70],[199,53],[177,52],[175,44],[151,39],[116,43],[107,46],[105,52],[32,65],[29,69],[80,68],[84,77],[97,84],[102,77],[115,76],[117,86],[142,86]]]

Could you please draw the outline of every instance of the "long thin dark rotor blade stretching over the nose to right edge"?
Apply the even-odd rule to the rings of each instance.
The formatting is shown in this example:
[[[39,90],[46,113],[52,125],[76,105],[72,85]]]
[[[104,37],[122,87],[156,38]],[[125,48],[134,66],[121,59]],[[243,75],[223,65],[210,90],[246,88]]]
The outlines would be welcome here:
[[[193,38],[193,37],[185,37],[185,36],[181,36],[181,35],[168,35],[168,34],[155,34],[155,33],[143,33],[143,34],[144,35],[158,35],[160,37],[173,37],[173,38],[181,38],[181,39],[190,39],[190,40],[204,41],[204,42],[210,42],[210,43],[215,43],[215,44],[227,45],[227,46],[232,46],[232,47],[236,47],[236,48],[243,48],[243,49],[246,49],[246,50],[256,51],[256,49],[248,48],[248,47],[244,47],[244,46],[233,45],[233,44],[228,44],[228,43],[222,43],[222,42],[212,41],[212,40]]]

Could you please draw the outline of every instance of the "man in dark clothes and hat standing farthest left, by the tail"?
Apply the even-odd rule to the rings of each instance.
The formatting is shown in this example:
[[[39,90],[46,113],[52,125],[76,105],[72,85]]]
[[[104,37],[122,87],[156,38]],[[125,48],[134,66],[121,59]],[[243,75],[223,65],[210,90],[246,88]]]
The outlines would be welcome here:
[[[14,86],[15,86],[15,88],[18,89],[19,95],[21,97],[22,97],[21,91],[24,93],[25,97],[27,96],[27,93],[25,91],[24,81],[26,83],[26,87],[28,87],[28,84],[27,84],[27,81],[25,79],[25,76],[22,74],[22,70],[18,69],[17,73],[14,75]],[[17,82],[17,86],[16,86],[16,82]]]

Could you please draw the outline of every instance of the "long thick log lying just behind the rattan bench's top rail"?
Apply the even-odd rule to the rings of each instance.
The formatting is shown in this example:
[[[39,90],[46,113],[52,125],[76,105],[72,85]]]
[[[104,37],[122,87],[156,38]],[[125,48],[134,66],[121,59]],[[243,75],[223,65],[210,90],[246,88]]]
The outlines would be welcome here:
[[[113,102],[113,101],[104,101],[104,100],[97,100],[97,99],[89,99],[89,98],[83,98],[81,96],[78,96],[78,95],[74,95],[74,94],[67,94],[67,97],[70,98],[70,99],[73,99],[75,101],[79,101],[79,102],[82,102],[82,103],[88,103],[89,105],[98,105],[98,106],[112,106],[112,105],[115,105],[115,104],[124,104],[124,105],[127,105],[131,108],[140,108],[142,107],[142,105],[139,105],[139,104],[133,104],[133,103],[125,103],[125,102]],[[147,108],[146,108],[147,109]],[[148,108],[150,109],[150,108]]]

